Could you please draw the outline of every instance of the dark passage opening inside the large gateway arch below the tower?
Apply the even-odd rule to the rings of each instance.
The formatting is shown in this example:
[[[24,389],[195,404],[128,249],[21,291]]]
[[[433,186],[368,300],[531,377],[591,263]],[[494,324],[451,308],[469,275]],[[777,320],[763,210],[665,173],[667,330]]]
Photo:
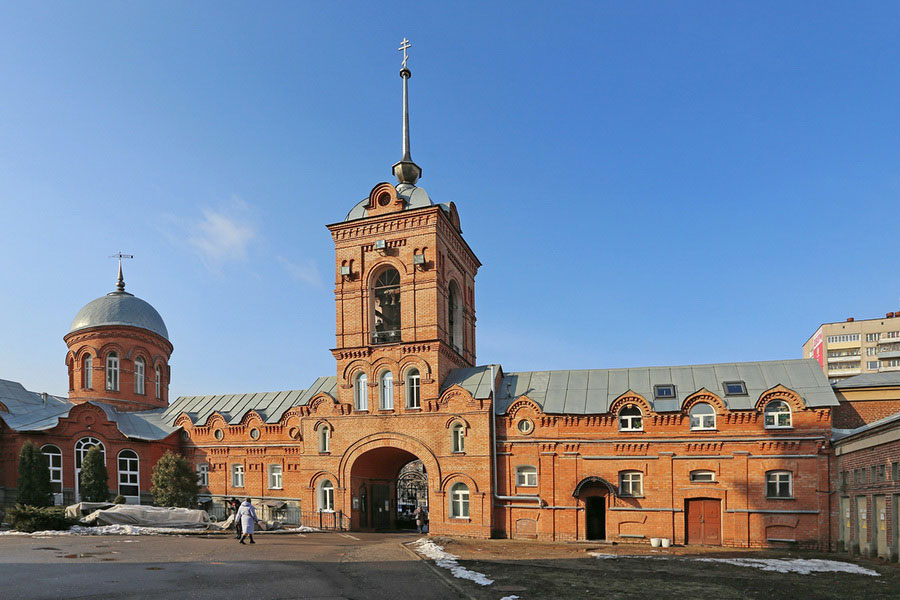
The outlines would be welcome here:
[[[350,471],[353,529],[415,528],[413,511],[428,507],[428,474],[414,454],[399,448],[375,448],[360,456]]]

